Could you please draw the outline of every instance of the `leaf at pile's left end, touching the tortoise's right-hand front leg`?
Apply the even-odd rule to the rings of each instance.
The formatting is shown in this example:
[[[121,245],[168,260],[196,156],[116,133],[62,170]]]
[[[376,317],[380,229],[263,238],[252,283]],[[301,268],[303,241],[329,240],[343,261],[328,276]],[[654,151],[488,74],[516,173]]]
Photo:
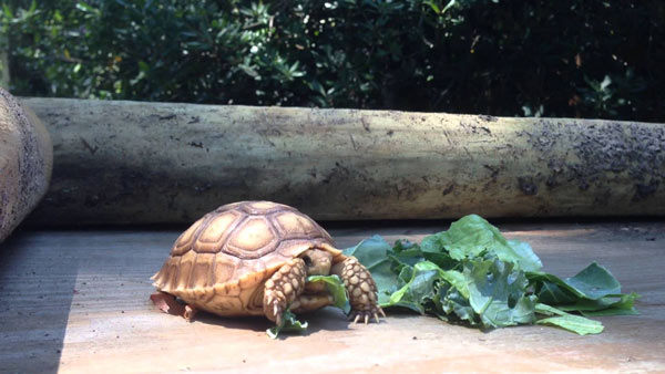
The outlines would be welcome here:
[[[390,245],[378,235],[344,250],[344,254],[356,257],[371,272],[381,305],[389,302],[390,294],[397,291],[399,283],[398,273],[391,269],[389,252],[392,252]]]

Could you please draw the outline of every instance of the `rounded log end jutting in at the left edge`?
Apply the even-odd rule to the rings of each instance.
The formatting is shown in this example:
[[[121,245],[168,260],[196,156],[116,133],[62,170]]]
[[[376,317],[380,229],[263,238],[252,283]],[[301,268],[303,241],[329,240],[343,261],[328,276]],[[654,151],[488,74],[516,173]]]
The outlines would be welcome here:
[[[52,157],[44,125],[0,87],[0,242],[47,193]]]

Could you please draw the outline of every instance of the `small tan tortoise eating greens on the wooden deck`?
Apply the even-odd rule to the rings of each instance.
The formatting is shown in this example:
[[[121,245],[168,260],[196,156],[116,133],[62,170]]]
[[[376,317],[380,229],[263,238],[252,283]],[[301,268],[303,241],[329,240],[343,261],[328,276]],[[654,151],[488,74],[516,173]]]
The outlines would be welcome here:
[[[188,321],[204,310],[265,315],[280,324],[287,310],[303,313],[332,304],[325,285],[306,282],[316,274],[339,276],[354,322],[386,316],[371,273],[336,249],[311,218],[270,201],[234,202],[206,214],[177,238],[152,279],[158,294],[186,303],[182,315]]]

